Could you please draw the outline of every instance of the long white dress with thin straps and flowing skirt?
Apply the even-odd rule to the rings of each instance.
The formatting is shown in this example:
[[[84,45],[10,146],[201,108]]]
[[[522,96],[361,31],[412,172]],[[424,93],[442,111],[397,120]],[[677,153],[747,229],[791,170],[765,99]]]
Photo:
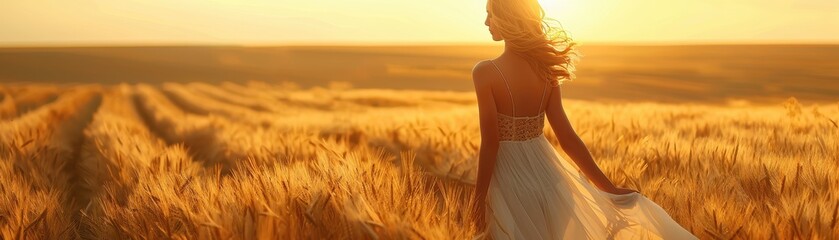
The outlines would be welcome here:
[[[615,195],[589,182],[545,138],[544,111],[498,116],[501,142],[486,198],[493,239],[697,239],[644,195]]]

